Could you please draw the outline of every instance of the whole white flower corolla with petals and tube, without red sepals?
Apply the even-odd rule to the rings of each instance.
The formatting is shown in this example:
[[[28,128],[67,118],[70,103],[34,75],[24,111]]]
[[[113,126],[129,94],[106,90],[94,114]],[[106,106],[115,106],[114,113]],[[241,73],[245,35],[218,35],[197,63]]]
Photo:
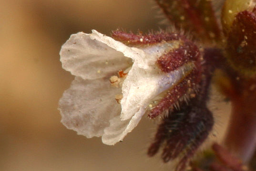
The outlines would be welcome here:
[[[60,52],[62,67],[75,76],[59,102],[61,122],[88,138],[102,136],[105,144],[123,140],[152,100],[193,69],[187,63],[164,73],[156,65],[158,57],[177,46],[173,40],[136,48],[95,30],[73,34]],[[111,86],[110,77],[121,69],[128,72],[122,88]],[[120,104],[115,95],[123,95]]]

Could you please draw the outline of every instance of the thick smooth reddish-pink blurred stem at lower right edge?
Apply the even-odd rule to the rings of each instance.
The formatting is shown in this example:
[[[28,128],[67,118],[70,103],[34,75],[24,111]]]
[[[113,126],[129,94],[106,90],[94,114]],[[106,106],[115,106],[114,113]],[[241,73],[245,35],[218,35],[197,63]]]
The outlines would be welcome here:
[[[245,163],[256,150],[256,100],[243,98],[233,101],[232,116],[225,146]]]

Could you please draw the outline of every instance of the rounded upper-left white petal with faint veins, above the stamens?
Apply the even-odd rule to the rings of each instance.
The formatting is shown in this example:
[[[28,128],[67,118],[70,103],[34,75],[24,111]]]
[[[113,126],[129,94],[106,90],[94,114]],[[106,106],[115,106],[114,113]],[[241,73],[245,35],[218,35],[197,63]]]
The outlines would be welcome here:
[[[83,79],[96,79],[116,74],[131,65],[130,58],[96,40],[93,35],[79,32],[62,45],[60,56],[65,70]],[[120,42],[114,40],[112,43]]]

